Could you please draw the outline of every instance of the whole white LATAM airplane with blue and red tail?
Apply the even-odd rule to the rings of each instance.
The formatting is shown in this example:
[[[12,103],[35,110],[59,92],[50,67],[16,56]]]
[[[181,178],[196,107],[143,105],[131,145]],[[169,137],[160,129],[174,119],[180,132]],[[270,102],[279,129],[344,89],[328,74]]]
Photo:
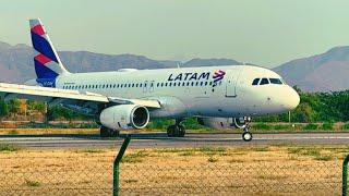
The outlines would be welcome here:
[[[169,137],[183,137],[182,122],[194,117],[208,127],[241,128],[242,139],[250,142],[251,118],[287,112],[300,102],[280,75],[253,65],[70,73],[40,20],[29,20],[29,25],[37,78],[24,85],[0,83],[0,96],[41,100],[94,117],[101,137],[144,128],[159,118],[176,120],[167,128]]]

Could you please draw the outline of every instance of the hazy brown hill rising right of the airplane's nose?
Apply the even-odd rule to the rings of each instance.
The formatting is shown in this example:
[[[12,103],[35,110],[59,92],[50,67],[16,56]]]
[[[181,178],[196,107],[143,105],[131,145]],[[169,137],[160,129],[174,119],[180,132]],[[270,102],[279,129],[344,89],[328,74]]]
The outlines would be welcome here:
[[[274,69],[287,83],[306,91],[349,89],[349,47],[297,59]]]

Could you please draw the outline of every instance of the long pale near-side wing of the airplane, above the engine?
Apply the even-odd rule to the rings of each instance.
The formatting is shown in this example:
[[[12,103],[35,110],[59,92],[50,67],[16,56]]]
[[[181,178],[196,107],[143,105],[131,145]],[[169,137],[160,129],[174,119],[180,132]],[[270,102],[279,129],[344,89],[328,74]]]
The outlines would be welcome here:
[[[4,100],[11,99],[31,99],[46,101],[49,105],[76,105],[81,107],[98,108],[103,103],[116,105],[141,105],[147,108],[160,108],[157,100],[147,99],[124,99],[118,97],[107,97],[94,93],[80,93],[77,90],[58,89],[40,86],[17,85],[0,83],[0,96]]]

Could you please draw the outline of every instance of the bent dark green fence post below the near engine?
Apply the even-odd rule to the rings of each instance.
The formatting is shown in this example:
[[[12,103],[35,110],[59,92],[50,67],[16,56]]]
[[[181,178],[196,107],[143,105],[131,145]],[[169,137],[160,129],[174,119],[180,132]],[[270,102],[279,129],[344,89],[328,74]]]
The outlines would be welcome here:
[[[117,155],[117,158],[113,160],[113,173],[112,173],[112,195],[119,195],[119,164],[123,157],[124,151],[127,150],[129,143],[131,140],[131,136],[127,135],[124,138],[122,146]]]

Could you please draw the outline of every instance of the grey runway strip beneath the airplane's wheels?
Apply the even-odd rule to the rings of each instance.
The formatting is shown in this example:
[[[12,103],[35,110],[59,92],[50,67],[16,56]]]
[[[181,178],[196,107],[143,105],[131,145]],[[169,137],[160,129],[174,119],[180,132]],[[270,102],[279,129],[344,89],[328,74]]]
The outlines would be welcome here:
[[[0,143],[31,149],[119,148],[121,138],[100,138],[98,135],[1,135]],[[201,146],[256,145],[348,145],[349,133],[254,134],[252,142],[243,142],[241,134],[202,133],[169,138],[165,133],[132,134],[130,148],[174,148]]]

